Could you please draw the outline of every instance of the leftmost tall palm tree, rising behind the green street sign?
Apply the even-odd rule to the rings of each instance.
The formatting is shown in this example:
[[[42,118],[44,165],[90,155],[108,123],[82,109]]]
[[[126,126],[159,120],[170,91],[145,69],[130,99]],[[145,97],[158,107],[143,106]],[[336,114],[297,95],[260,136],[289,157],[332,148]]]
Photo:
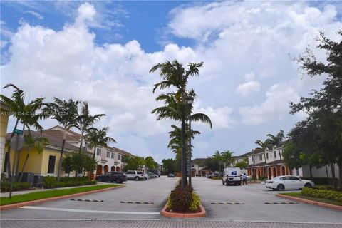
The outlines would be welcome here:
[[[23,125],[23,130],[25,128],[30,130],[30,127],[33,126],[36,128],[36,130],[43,130],[41,125],[39,125],[38,120],[40,118],[43,118],[43,115],[37,115],[37,111],[41,109],[43,105],[43,100],[45,98],[36,98],[35,100],[32,100],[28,104],[25,105],[25,94],[24,91],[19,89],[14,84],[7,84],[4,86],[4,88],[13,88],[13,93],[11,95],[11,98],[6,97],[5,95],[0,94],[1,102],[3,102],[6,106],[8,106],[11,110],[11,114],[14,115],[14,118],[16,118],[16,122],[14,124],[14,129],[11,133],[11,138],[14,137],[14,130],[18,127],[18,124],[21,123]],[[29,113],[30,115],[27,115]],[[10,138],[10,140],[11,140]],[[11,145],[7,147],[7,164],[4,164],[7,166],[7,172],[9,175],[9,179],[11,180],[11,162],[9,162],[10,159],[10,151],[11,151]],[[19,152],[20,153],[20,152]],[[20,156],[19,156],[20,157]],[[14,161],[16,161],[16,153],[14,154]],[[17,161],[17,164],[19,165],[19,158]],[[13,163],[14,167],[15,162]],[[18,167],[17,165],[17,167]],[[14,174],[14,167],[12,168],[12,173]]]

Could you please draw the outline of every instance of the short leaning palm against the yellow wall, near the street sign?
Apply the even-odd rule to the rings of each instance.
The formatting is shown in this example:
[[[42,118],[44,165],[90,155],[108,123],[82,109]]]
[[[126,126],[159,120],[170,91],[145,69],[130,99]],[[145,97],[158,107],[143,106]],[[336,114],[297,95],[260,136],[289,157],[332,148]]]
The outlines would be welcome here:
[[[34,148],[37,150],[38,154],[41,154],[43,152],[44,147],[48,144],[48,139],[45,137],[39,137],[39,138],[33,138],[31,133],[28,133],[28,135],[24,135],[25,138],[25,147],[27,150],[27,154],[24,160],[23,167],[21,168],[21,173],[18,182],[21,182],[21,178],[23,177],[23,172],[26,167],[26,162],[28,160],[28,156],[30,155],[31,149]]]

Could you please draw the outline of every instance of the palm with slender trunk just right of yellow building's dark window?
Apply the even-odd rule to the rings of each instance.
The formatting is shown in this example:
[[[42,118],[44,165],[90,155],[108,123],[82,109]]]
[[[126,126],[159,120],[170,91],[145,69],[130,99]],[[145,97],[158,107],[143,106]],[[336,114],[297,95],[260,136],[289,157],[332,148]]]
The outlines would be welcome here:
[[[73,99],[60,100],[56,97],[53,98],[53,101],[53,103],[48,103],[46,105],[44,111],[46,113],[49,113],[49,115],[51,115],[51,118],[57,120],[58,123],[60,123],[63,127],[63,141],[61,146],[61,154],[59,156],[57,172],[57,181],[59,182],[62,170],[64,145],[66,144],[66,131],[76,124],[77,107],[80,101],[73,101]]]

